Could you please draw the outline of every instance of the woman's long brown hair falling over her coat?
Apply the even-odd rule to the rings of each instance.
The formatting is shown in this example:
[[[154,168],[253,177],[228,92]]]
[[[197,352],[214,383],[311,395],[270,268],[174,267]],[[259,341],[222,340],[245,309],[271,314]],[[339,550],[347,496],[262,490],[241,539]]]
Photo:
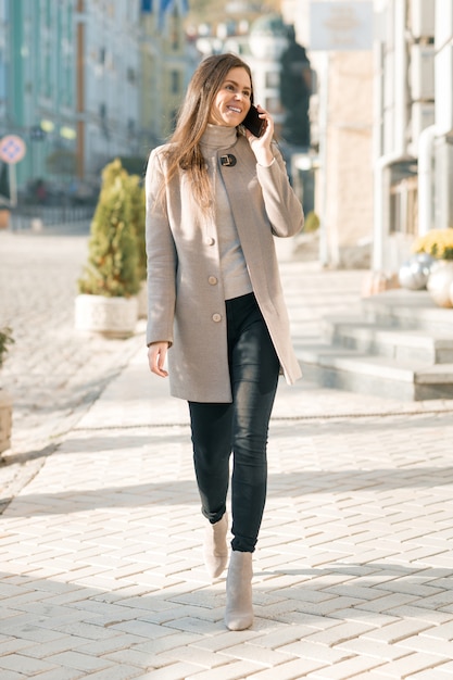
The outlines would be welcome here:
[[[249,74],[253,103],[250,66],[236,54],[207,56],[192,75],[166,150],[168,166],[165,181],[169,182],[179,168],[188,172],[193,197],[203,213],[210,210],[212,197],[206,164],[199,142],[206,129],[215,96],[229,71],[237,67],[244,68]]]

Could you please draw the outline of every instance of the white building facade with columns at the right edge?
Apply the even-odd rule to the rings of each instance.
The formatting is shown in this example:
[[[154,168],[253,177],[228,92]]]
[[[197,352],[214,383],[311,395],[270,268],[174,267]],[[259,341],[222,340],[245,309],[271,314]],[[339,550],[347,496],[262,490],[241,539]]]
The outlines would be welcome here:
[[[415,236],[453,227],[453,3],[376,10],[373,266],[394,273]]]

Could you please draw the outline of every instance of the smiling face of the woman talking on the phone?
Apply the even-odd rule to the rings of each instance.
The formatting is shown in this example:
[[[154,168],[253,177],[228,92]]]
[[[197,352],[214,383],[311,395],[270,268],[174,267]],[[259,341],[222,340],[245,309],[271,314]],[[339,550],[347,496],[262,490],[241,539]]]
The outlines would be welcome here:
[[[236,127],[250,109],[252,84],[246,68],[237,66],[228,71],[211,109],[209,123]]]

